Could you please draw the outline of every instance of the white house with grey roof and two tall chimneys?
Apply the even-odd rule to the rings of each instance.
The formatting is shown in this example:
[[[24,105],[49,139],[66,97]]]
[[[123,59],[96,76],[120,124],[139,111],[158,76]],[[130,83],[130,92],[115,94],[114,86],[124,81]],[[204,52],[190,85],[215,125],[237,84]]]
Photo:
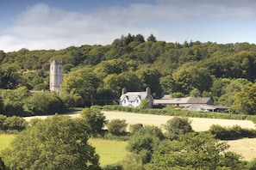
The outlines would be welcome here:
[[[140,106],[142,100],[148,100],[148,107],[153,107],[153,97],[150,88],[146,88],[145,92],[127,92],[126,88],[122,88],[122,95],[119,100],[120,106]]]

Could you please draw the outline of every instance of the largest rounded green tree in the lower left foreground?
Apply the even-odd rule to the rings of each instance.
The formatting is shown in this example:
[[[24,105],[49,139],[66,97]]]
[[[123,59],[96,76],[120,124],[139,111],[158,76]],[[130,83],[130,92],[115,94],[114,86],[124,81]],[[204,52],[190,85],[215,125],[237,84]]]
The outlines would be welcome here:
[[[3,162],[10,169],[99,169],[87,129],[79,118],[40,120],[17,135]]]

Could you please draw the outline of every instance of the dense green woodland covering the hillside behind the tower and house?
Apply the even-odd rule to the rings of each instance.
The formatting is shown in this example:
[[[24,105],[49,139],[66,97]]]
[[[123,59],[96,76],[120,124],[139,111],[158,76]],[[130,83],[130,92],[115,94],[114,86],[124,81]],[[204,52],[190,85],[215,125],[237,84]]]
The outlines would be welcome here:
[[[29,90],[48,90],[49,65],[54,59],[64,67],[60,95],[31,95]],[[159,41],[153,34],[146,39],[128,33],[107,46],[0,51],[0,111],[44,114],[74,106],[116,104],[123,87],[128,91],[149,87],[155,99],[163,94],[211,97],[235,113],[256,114],[255,73],[256,45],[246,42],[179,44]]]

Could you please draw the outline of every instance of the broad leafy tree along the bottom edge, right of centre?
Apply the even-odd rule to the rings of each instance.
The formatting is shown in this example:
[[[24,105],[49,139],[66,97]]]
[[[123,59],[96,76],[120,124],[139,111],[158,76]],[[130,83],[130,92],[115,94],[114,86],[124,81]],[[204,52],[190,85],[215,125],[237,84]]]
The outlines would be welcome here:
[[[186,133],[164,140],[154,149],[148,169],[245,169],[241,156],[226,151],[228,144],[209,133]]]

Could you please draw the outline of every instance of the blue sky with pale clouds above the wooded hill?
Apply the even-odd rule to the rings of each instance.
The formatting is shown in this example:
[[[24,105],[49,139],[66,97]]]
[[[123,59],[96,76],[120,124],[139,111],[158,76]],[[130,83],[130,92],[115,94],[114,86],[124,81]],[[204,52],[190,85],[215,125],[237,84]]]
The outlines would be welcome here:
[[[255,9],[255,0],[1,0],[0,50],[105,46],[128,33],[256,44]]]

